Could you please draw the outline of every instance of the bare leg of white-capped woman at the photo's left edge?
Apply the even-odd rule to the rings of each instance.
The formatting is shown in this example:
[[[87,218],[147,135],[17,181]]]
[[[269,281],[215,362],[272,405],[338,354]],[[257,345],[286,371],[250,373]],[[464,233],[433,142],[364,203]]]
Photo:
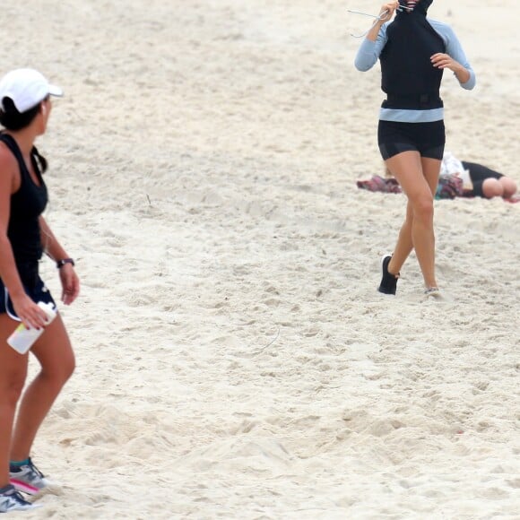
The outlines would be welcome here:
[[[14,415],[27,377],[29,354],[19,354],[6,342],[17,326],[9,316],[0,314],[0,488],[9,484]]]

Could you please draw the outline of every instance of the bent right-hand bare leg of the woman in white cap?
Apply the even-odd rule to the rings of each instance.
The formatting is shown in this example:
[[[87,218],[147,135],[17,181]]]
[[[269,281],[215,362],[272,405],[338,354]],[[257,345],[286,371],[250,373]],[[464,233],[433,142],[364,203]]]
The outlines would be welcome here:
[[[39,426],[74,372],[74,352],[59,314],[31,352],[39,360],[41,370],[22,397],[11,446],[11,460],[14,461],[30,455]]]

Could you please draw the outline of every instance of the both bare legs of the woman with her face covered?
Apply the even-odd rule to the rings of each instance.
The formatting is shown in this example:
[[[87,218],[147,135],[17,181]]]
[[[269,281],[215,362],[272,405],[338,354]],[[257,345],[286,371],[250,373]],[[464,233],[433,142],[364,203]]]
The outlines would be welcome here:
[[[402,152],[386,160],[386,166],[408,197],[406,220],[388,269],[390,273],[399,273],[413,247],[426,287],[437,287],[433,197],[437,189],[440,160],[421,158],[419,152]]]

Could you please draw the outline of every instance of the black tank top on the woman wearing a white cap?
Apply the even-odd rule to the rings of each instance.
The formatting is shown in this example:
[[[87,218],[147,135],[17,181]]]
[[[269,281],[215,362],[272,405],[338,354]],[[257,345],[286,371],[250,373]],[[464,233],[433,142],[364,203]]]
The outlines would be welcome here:
[[[47,186],[39,169],[38,151],[33,147],[30,152],[32,167],[39,179],[38,186],[30,177],[18,144],[9,134],[0,134],[2,141],[18,161],[20,168],[20,188],[11,195],[11,212],[7,237],[13,247],[14,260],[19,267],[22,264],[37,263],[42,256],[43,247],[39,230],[39,215],[48,203]]]

